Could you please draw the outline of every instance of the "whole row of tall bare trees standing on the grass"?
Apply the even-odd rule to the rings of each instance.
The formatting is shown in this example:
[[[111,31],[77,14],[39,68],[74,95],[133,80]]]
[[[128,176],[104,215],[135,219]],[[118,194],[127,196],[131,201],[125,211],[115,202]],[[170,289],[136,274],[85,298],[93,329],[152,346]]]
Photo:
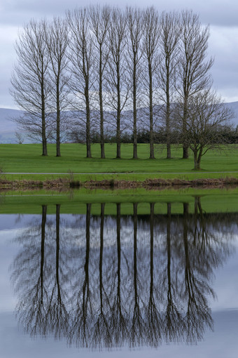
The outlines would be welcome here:
[[[98,133],[105,158],[111,128],[120,158],[130,126],[134,159],[138,133],[148,131],[154,159],[155,133],[163,131],[167,159],[175,133],[183,158],[190,147],[199,161],[232,116],[211,90],[208,39],[209,26],[193,11],[88,6],[52,21],[31,20],[15,45],[10,92],[24,110],[18,124],[41,139],[44,156],[52,138],[60,157],[65,133],[83,133],[90,158],[92,133]]]

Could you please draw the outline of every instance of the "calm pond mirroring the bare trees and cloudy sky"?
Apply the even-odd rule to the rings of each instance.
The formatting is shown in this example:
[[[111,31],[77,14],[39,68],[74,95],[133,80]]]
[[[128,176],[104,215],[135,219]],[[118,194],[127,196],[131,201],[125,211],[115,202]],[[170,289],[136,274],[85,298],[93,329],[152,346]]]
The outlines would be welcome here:
[[[2,199],[0,357],[237,357],[237,192],[91,194]]]

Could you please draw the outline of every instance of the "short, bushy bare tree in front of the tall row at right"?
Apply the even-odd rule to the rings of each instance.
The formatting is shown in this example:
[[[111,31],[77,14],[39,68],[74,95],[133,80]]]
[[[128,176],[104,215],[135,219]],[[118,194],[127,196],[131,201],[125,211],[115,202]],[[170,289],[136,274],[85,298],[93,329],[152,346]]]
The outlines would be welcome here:
[[[183,121],[183,108],[181,112]],[[200,169],[202,156],[225,144],[223,128],[228,128],[234,114],[209,88],[188,98],[186,112],[186,140],[193,151],[194,168]]]

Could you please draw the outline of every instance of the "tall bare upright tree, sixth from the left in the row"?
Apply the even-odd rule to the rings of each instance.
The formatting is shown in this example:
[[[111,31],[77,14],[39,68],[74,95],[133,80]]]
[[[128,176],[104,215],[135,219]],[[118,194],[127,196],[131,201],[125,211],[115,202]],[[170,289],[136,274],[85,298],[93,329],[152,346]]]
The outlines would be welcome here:
[[[129,53],[128,67],[132,80],[133,102],[133,159],[137,159],[137,100],[141,71],[141,38],[143,34],[143,17],[139,8],[127,8],[127,51]]]

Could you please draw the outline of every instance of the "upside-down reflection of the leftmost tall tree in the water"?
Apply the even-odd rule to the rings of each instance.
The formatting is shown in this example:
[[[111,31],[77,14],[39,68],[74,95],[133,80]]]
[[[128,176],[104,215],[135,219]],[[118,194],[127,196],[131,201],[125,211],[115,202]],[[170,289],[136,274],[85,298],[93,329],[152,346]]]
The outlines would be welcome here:
[[[45,336],[48,311],[48,267],[45,267],[45,223],[47,206],[42,205],[41,224],[35,223],[19,237],[24,248],[15,258],[11,278],[19,295],[20,322],[31,335]]]

